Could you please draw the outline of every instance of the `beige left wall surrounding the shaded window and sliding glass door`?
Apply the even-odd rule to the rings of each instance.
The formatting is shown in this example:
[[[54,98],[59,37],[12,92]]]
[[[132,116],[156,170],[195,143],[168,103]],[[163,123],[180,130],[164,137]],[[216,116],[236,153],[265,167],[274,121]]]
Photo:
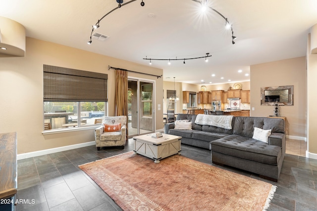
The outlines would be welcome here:
[[[107,66],[162,75],[163,70],[101,54],[90,53],[32,38],[24,57],[0,58],[0,133],[17,132],[18,154],[94,141],[94,129],[43,135],[43,64],[108,74],[108,115],[114,114],[114,70]],[[128,72],[154,80],[155,105],[162,103],[163,78]],[[156,129],[163,128],[163,111],[156,110]]]

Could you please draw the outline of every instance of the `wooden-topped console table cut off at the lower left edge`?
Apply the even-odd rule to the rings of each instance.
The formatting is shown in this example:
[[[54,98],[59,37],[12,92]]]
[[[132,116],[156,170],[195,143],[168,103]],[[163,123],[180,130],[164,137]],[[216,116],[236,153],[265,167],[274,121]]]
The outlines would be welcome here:
[[[0,210],[15,210],[18,188],[16,154],[16,132],[0,133],[0,199],[5,202],[0,204]]]

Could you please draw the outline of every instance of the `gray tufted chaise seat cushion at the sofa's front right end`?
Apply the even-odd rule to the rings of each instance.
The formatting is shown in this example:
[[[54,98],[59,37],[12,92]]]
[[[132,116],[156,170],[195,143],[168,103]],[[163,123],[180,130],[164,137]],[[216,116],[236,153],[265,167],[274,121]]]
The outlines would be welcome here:
[[[239,135],[228,135],[211,143],[212,152],[237,158],[277,165],[282,156],[282,148]]]

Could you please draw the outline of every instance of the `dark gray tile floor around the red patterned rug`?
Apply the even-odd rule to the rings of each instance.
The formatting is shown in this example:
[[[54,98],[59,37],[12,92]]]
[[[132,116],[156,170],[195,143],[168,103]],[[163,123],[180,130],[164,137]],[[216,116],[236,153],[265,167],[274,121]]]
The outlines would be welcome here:
[[[78,165],[132,151],[130,139],[121,148],[84,147],[18,160],[17,211],[117,211],[121,210]],[[182,156],[211,165],[209,150],[182,144]],[[221,167],[221,166],[218,166]],[[286,155],[278,183],[256,174],[221,167],[278,186],[269,211],[317,210],[317,160]]]

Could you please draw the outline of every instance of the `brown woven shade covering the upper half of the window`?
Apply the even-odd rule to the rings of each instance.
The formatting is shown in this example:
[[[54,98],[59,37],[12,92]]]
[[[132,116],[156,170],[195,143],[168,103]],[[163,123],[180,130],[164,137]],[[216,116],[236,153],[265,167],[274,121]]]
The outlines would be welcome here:
[[[107,101],[107,74],[44,64],[44,101]]]

